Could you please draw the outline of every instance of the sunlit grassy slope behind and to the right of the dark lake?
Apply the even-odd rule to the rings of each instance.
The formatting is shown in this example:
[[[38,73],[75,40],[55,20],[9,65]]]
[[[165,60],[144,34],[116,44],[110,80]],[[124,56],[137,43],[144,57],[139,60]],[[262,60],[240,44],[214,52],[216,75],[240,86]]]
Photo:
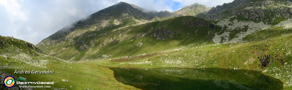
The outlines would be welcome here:
[[[274,30],[274,28],[276,30]],[[269,32],[271,29],[273,33]],[[161,51],[155,56],[138,56],[127,59],[108,59],[88,62],[108,67],[136,68],[230,68],[262,70],[265,75],[277,78],[284,89],[292,89],[292,30],[271,27],[254,36],[248,43],[190,45]],[[265,36],[270,37],[265,37]]]

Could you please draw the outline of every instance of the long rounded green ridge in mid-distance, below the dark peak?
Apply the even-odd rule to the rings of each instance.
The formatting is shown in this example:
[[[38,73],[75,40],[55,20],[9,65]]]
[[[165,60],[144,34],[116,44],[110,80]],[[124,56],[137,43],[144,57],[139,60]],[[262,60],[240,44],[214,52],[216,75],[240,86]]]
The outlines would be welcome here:
[[[86,32],[84,35],[72,38],[74,41],[83,42],[82,44],[68,39],[44,46],[42,46],[44,43],[41,42],[37,46],[47,54],[65,60],[95,60],[109,56],[121,58],[200,44],[203,41],[211,43],[213,30],[210,26],[208,21],[197,17],[175,17],[121,29],[109,28]],[[142,46],[138,47],[138,43],[142,43]],[[88,48],[84,49],[84,47]]]

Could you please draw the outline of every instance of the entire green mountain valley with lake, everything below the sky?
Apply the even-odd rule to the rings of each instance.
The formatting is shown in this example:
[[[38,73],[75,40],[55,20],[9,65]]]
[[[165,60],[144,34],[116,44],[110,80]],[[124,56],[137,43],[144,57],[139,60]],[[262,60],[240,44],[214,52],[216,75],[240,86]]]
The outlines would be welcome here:
[[[35,46],[0,36],[1,80],[12,75],[55,82],[27,90],[148,90],[170,84],[198,89],[193,87],[210,82],[209,89],[291,90],[291,2],[235,0],[213,8],[194,3],[175,12],[120,2]],[[182,81],[203,83],[184,87]]]

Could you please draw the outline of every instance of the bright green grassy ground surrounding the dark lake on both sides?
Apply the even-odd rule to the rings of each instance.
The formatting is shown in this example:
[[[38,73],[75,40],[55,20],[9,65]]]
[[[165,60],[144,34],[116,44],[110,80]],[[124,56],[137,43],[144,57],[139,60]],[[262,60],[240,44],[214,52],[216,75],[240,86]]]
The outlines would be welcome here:
[[[283,82],[284,90],[291,90],[292,34],[289,34],[291,29],[277,30],[277,28],[281,29],[281,27],[271,27],[250,34],[243,38],[241,43],[201,43],[129,58],[109,57],[77,63],[47,56],[41,52],[36,53],[32,47],[24,48],[25,42],[4,37],[2,41],[4,40],[6,44],[4,44],[5,48],[1,47],[0,50],[2,53],[0,71],[1,74],[12,75],[16,78],[25,77],[28,82],[55,82],[50,85],[51,88],[41,88],[47,90],[62,88],[67,90],[84,88],[133,90],[137,88],[117,81],[114,78],[114,72],[107,67],[247,69],[259,70],[265,75],[279,79]],[[272,33],[265,33],[271,29]],[[54,70],[55,73],[53,75],[13,74],[15,70]],[[64,82],[63,79],[69,82]],[[2,86],[0,89],[5,88]]]

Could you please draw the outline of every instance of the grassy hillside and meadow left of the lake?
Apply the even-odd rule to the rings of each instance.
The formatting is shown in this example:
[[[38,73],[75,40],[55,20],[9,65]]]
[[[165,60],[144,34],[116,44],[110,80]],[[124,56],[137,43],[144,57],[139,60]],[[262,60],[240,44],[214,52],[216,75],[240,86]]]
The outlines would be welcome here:
[[[69,63],[44,54],[34,45],[23,40],[12,37],[0,36],[0,77],[1,82],[8,75],[26,78],[27,82],[55,82],[43,86],[51,88],[32,88],[34,90],[52,90],[52,89],[126,89],[133,90],[135,87],[124,85],[115,80],[113,71],[101,66],[93,66],[85,63]],[[92,67],[92,68],[90,68]],[[54,74],[14,74],[15,70],[40,70],[52,71]],[[63,82],[62,79],[69,80]],[[21,82],[21,81],[20,81]],[[22,86],[28,86],[23,85]],[[31,84],[36,86],[35,84]],[[73,87],[70,87],[73,86]],[[13,88],[6,88],[0,84],[1,90],[27,90],[29,88],[19,88],[16,84]]]

